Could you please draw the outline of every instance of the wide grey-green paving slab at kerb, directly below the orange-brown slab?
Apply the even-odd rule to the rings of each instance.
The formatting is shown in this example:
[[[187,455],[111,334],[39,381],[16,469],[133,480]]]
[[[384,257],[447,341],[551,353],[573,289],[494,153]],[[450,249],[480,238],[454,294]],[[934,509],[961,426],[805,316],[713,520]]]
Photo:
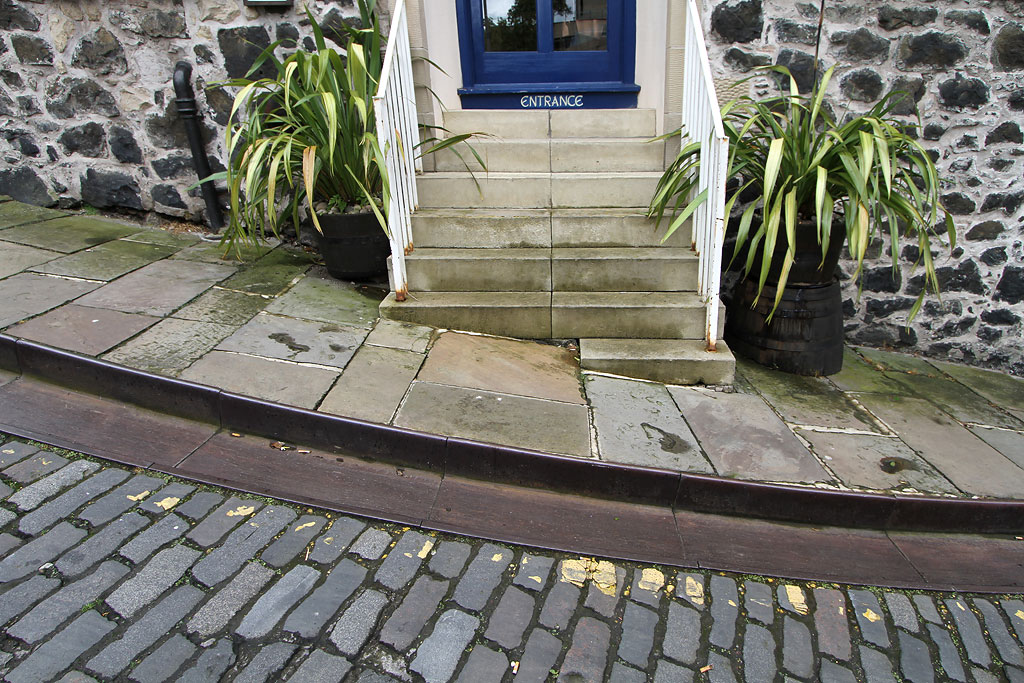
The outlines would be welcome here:
[[[549,453],[591,454],[587,409],[575,403],[417,381],[394,424]]]

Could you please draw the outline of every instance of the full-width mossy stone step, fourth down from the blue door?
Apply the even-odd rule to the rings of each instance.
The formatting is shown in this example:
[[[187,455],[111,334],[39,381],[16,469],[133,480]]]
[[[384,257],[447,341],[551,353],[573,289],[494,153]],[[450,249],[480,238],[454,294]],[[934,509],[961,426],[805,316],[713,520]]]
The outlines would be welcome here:
[[[419,247],[657,247],[660,230],[630,209],[421,209],[413,214]],[[665,243],[689,247],[687,222]]]

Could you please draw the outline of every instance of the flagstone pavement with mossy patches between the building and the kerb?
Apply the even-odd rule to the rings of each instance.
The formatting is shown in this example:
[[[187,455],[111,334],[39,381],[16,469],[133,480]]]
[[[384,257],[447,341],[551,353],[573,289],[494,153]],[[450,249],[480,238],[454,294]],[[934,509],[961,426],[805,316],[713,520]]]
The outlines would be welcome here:
[[[287,245],[0,203],[6,334],[290,405],[605,462],[833,489],[1024,499],[1024,380],[850,348],[732,387],[581,372],[562,344],[380,319],[383,285]]]

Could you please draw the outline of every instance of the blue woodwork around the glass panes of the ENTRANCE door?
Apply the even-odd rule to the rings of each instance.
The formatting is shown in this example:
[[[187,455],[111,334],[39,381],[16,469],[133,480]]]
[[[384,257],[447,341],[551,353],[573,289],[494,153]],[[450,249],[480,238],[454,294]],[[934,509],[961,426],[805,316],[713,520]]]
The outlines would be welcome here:
[[[483,0],[457,0],[463,109],[635,108],[636,0],[608,1],[607,50],[556,51],[552,0],[536,0],[538,49],[483,49]]]

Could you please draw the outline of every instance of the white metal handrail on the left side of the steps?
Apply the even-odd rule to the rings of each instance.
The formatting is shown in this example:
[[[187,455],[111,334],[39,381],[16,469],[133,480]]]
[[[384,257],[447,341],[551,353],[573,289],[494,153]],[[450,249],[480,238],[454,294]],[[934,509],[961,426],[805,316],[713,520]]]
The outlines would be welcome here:
[[[406,0],[395,3],[391,15],[391,31],[384,53],[381,82],[374,96],[374,111],[377,115],[377,141],[387,165],[392,288],[395,298],[404,301],[409,293],[406,254],[413,251],[412,216],[419,204],[416,173],[423,170],[423,162],[416,156],[420,138]]]

